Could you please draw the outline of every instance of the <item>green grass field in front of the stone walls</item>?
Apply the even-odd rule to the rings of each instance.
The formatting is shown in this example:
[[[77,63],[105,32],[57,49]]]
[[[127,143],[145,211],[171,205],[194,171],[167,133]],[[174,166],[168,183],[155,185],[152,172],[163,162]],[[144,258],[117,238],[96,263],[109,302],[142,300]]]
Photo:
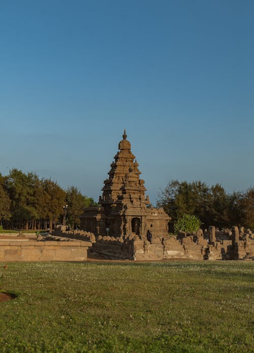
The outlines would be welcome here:
[[[0,263],[1,352],[253,352],[253,262]]]

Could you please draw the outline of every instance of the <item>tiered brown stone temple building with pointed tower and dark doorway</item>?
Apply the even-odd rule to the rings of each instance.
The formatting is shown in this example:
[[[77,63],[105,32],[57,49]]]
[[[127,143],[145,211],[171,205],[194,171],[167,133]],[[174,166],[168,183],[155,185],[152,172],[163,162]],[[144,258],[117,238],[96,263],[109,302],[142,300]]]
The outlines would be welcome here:
[[[168,235],[170,217],[163,209],[150,207],[145,197],[144,180],[131,151],[131,143],[124,130],[122,140],[104,181],[99,207],[87,207],[81,215],[81,229],[96,235],[128,238],[146,236],[147,230],[153,237]]]

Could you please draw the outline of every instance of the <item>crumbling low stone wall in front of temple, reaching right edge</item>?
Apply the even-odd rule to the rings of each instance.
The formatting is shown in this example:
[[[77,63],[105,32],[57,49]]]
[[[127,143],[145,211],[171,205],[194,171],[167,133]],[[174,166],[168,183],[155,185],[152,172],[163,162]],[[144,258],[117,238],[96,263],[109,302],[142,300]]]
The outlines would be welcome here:
[[[232,241],[215,241],[208,244],[199,237],[197,242],[193,237],[178,240],[176,237],[155,238],[151,243],[138,236],[123,240],[114,237],[98,237],[92,244],[91,251],[108,259],[129,260],[252,260],[254,242],[239,241],[234,246]]]

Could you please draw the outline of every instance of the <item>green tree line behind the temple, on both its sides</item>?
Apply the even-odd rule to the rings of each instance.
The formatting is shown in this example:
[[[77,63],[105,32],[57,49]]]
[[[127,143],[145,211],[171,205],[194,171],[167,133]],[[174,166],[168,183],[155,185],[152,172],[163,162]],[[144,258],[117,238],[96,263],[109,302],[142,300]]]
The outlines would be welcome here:
[[[18,169],[7,176],[0,173],[0,227],[5,229],[52,229],[55,223],[62,223],[65,212],[66,223],[74,229],[83,208],[94,205],[76,186],[65,190],[51,178]],[[170,230],[184,213],[198,216],[203,228],[236,225],[254,230],[254,187],[230,194],[220,184],[171,180],[159,193],[157,207],[163,207],[172,218]]]

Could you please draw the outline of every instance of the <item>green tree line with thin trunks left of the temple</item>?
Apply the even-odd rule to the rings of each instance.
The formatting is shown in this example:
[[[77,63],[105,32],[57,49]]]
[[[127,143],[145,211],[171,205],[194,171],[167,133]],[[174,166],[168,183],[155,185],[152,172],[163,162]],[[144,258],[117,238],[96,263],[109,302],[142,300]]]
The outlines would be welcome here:
[[[54,224],[61,223],[63,218],[71,228],[75,228],[83,208],[93,205],[93,199],[82,195],[75,186],[65,190],[51,178],[40,178],[34,172],[23,173],[15,168],[7,176],[0,173],[2,228],[52,230]]]

